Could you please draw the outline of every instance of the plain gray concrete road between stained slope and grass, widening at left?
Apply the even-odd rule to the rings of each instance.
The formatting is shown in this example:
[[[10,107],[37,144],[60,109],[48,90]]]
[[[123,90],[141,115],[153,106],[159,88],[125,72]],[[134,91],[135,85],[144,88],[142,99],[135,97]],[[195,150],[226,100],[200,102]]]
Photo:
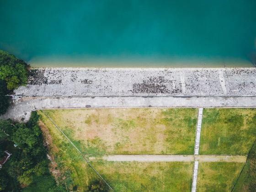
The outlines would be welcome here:
[[[256,97],[21,97],[0,118],[27,121],[32,110],[87,107],[256,107]]]

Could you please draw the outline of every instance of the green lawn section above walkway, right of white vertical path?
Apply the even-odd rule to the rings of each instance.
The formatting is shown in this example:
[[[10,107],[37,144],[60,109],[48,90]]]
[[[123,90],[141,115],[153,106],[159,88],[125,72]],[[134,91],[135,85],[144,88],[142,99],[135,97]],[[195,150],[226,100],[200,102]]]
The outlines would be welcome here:
[[[256,109],[206,108],[199,154],[247,155],[256,139]]]

